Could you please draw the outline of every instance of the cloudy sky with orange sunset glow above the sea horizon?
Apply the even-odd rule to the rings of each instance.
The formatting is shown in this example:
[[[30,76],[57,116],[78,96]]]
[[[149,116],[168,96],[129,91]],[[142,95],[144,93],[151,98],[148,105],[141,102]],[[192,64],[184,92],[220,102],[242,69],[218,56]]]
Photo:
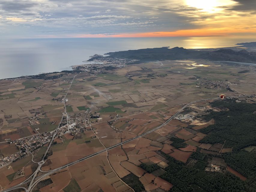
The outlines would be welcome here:
[[[0,38],[256,38],[256,0],[0,0]]]

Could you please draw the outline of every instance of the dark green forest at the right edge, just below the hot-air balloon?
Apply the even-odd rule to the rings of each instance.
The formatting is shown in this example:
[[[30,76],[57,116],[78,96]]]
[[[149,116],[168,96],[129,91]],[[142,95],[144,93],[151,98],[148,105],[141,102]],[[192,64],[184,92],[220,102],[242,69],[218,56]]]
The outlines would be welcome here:
[[[224,148],[233,147],[233,151],[256,145],[255,104],[236,103],[234,100],[218,100],[212,102],[212,107],[228,110],[212,111],[204,117],[215,119],[215,124],[200,130],[204,134],[210,133],[200,143],[225,143]]]

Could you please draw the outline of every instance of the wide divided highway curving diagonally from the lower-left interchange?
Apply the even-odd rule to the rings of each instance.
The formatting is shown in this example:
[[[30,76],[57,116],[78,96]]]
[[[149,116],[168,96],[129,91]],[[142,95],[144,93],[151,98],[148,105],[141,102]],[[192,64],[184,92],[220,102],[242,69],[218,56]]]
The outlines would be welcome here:
[[[33,190],[33,188],[36,186],[36,184],[37,184],[41,179],[43,179],[43,178],[46,177],[46,176],[49,176],[49,175],[51,175],[51,174],[53,174],[53,173],[56,173],[56,172],[58,172],[59,170],[65,169],[65,168],[68,167],[68,166],[71,166],[71,165],[77,164],[77,163],[79,163],[79,162],[81,162],[81,161],[84,161],[84,160],[86,160],[86,159],[92,158],[92,157],[94,157],[94,156],[96,156],[96,155],[99,155],[99,154],[101,154],[101,153],[103,153],[103,152],[106,152],[107,150],[116,148],[116,147],[121,146],[121,145],[123,145],[123,144],[125,144],[125,143],[128,143],[128,142],[130,142],[130,141],[133,141],[133,140],[135,140],[135,139],[137,139],[137,138],[139,138],[139,137],[143,137],[143,136],[145,136],[145,135],[147,135],[147,134],[149,134],[149,133],[152,133],[153,131],[158,130],[159,128],[163,127],[164,125],[167,125],[172,119],[174,119],[179,113],[182,112],[182,110],[184,110],[184,109],[185,109],[186,107],[188,107],[189,105],[194,104],[194,103],[197,103],[197,102],[199,102],[199,101],[207,101],[207,100],[214,100],[214,99],[219,99],[219,98],[202,99],[202,100],[190,102],[190,103],[184,105],[179,111],[177,111],[173,116],[171,116],[166,122],[164,122],[163,124],[159,125],[158,127],[154,128],[154,129],[152,129],[152,130],[150,130],[150,131],[148,131],[148,132],[146,132],[146,133],[140,134],[140,135],[138,135],[138,136],[136,136],[136,137],[134,137],[134,138],[131,138],[131,139],[126,140],[126,141],[124,141],[124,142],[118,143],[118,144],[116,144],[116,145],[113,145],[113,146],[111,146],[111,147],[108,147],[108,148],[106,148],[106,149],[103,149],[103,150],[101,150],[101,151],[98,151],[98,152],[93,153],[93,154],[91,154],[91,155],[88,155],[88,156],[86,156],[86,157],[84,157],[84,158],[81,158],[81,159],[79,159],[79,160],[77,160],[77,161],[73,161],[73,162],[71,162],[71,163],[68,163],[68,164],[66,164],[66,165],[63,165],[62,167],[56,168],[56,169],[54,169],[54,170],[50,170],[49,172],[47,172],[47,173],[45,173],[45,174],[43,174],[43,175],[41,175],[41,176],[35,177],[36,174],[34,173],[33,179],[32,179],[32,181],[30,182],[30,185],[29,185],[29,188],[28,188],[27,192],[29,192],[30,190]],[[56,129],[56,130],[57,130],[57,129]],[[56,131],[56,132],[57,132],[57,131]],[[56,133],[56,132],[55,132],[55,133]],[[55,135],[56,135],[56,134],[55,134]],[[49,145],[49,146],[50,146],[50,145]],[[41,164],[41,165],[42,165],[42,164]],[[37,169],[37,172],[38,172],[40,169],[41,169],[41,166],[39,165],[39,166],[38,166],[38,169]],[[35,180],[35,182],[33,182],[34,180]],[[3,190],[2,192],[9,192],[9,191],[11,191],[11,190],[14,190],[14,189],[18,188],[19,186],[21,186],[21,185],[23,185],[23,184],[25,184],[25,183],[28,183],[28,181],[22,182],[22,183],[20,183],[20,184],[14,186],[14,187],[11,187],[11,188],[9,188],[9,189]]]

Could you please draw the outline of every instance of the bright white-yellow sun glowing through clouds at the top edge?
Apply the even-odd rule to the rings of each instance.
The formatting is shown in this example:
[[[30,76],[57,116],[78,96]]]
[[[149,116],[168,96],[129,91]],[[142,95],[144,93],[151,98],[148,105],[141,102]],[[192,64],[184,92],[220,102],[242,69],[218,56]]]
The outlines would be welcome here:
[[[223,10],[223,6],[230,6],[235,4],[232,0],[185,0],[185,3],[190,7],[196,7],[203,12],[216,13]]]

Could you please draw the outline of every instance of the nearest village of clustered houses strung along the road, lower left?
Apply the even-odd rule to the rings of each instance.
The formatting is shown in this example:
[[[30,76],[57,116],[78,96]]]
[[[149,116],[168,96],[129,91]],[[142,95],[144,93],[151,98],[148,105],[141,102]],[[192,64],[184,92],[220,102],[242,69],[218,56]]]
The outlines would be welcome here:
[[[40,114],[40,110],[33,110],[33,112],[37,115]],[[30,125],[39,125],[40,118],[38,118],[37,115],[29,119]],[[96,128],[88,128],[88,126],[91,125],[91,121],[101,121],[100,114],[92,114],[91,110],[87,110],[84,113],[70,113],[68,114],[68,118],[64,118],[60,123],[59,132],[56,137],[62,138],[62,135],[66,133],[76,135],[80,132],[95,130]],[[54,123],[55,122],[52,122],[51,124],[53,125]],[[8,143],[15,144],[19,151],[12,155],[9,155],[8,157],[0,157],[0,168],[7,166],[14,161],[17,161],[18,159],[24,157],[25,155],[28,155],[29,153],[37,149],[40,149],[46,143],[51,141],[54,131],[40,134],[38,130],[39,128],[35,128],[34,132],[38,134],[32,135],[30,137],[24,137],[12,141],[8,140]],[[98,131],[95,131],[95,133],[97,134]],[[92,139],[95,139],[95,137],[93,137]]]

